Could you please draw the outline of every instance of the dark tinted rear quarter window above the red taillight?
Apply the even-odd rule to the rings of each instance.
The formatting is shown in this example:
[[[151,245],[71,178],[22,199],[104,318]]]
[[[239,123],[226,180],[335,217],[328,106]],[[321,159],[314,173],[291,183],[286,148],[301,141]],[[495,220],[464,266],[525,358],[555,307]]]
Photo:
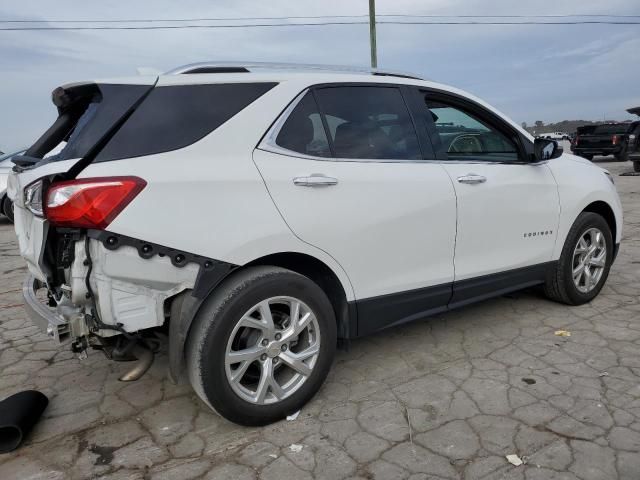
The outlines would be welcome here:
[[[186,147],[211,133],[276,83],[156,87],[96,157],[96,162]]]

